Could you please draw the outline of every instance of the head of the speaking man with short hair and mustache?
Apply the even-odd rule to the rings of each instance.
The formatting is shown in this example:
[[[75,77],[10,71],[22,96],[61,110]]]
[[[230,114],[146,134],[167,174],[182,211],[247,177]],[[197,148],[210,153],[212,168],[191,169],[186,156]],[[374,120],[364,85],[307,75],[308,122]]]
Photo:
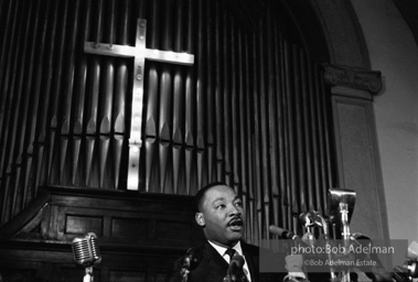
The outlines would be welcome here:
[[[233,188],[214,186],[206,191],[196,221],[207,240],[223,247],[233,246],[244,234],[243,203]]]

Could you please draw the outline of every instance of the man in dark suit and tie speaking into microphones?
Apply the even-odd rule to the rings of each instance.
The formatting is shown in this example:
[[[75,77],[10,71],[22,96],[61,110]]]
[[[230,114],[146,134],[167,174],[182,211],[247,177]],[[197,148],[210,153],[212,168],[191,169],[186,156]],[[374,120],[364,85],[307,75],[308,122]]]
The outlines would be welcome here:
[[[190,256],[178,260],[167,281],[223,282],[229,272],[235,272],[229,273],[234,275],[233,281],[283,281],[287,273],[260,273],[260,249],[243,241],[243,204],[233,188],[223,183],[213,183],[200,189],[195,200],[195,220],[202,227],[207,241],[193,251],[195,256],[192,261],[195,260],[195,263],[190,263]],[[233,254],[227,253],[229,249],[233,249]],[[301,269],[302,258],[290,257],[293,258],[287,258],[286,262]],[[231,263],[231,260],[236,261]],[[286,262],[282,258],[277,261],[277,265],[283,267]],[[303,273],[299,274],[301,279],[304,278]]]

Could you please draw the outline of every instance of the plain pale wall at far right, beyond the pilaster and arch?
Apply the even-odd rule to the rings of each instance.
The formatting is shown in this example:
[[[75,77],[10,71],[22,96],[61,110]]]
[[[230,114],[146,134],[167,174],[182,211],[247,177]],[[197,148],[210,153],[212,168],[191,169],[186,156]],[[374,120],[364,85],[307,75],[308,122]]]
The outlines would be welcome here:
[[[384,88],[374,98],[373,107],[389,236],[417,240],[417,43],[392,1],[352,0],[352,3],[365,36],[372,69],[383,74]]]

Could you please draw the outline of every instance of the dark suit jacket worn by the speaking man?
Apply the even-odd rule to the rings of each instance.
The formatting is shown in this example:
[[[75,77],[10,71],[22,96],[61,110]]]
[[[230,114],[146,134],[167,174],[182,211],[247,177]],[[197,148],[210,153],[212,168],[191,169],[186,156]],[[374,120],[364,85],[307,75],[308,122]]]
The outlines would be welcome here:
[[[243,253],[248,264],[251,282],[281,282],[287,273],[260,273],[259,272],[259,248],[242,242]],[[202,259],[199,265],[190,272],[189,282],[223,282],[228,270],[225,259],[208,243],[200,247]],[[169,271],[167,282],[181,282],[180,270],[183,258],[176,260]],[[285,259],[282,262],[285,265]]]

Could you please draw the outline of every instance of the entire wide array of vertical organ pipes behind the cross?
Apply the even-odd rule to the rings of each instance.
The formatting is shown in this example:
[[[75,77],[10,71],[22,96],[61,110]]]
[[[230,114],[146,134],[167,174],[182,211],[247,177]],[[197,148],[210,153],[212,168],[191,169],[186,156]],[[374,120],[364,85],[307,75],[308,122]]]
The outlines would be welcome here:
[[[146,63],[140,186],[192,195],[224,181],[243,195],[253,242],[270,224],[296,230],[294,215],[325,208],[333,172],[321,69],[268,11],[242,26],[223,1],[142,0],[136,11],[130,0],[53,1],[36,12],[43,1],[0,4],[2,221],[39,184],[125,187],[133,69],[83,54],[78,41],[132,45],[137,18],[148,48],[195,55],[192,67]],[[17,12],[29,4],[31,32]]]

